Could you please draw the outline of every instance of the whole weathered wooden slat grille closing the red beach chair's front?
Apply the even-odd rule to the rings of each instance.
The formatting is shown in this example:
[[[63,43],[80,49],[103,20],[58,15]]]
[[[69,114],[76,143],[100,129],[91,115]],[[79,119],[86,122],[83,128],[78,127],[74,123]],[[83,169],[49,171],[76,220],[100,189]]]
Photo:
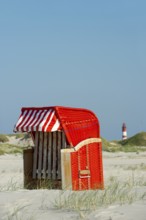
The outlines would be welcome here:
[[[36,132],[33,161],[34,179],[61,179],[62,148],[67,148],[64,132]]]

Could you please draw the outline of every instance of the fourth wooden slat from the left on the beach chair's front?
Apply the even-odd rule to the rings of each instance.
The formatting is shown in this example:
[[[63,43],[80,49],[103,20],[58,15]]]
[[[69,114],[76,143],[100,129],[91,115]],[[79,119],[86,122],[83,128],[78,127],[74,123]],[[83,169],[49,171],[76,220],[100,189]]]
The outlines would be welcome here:
[[[48,133],[48,179],[51,179],[52,174],[52,133]]]

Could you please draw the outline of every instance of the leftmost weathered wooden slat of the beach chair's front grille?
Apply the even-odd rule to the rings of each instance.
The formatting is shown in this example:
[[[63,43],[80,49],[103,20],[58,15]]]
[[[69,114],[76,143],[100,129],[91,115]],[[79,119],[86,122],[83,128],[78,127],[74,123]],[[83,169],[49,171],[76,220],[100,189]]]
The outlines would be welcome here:
[[[39,133],[35,133],[35,146],[34,146],[34,157],[33,157],[33,179],[36,179],[36,171],[37,171],[37,154],[38,154],[38,140]]]

